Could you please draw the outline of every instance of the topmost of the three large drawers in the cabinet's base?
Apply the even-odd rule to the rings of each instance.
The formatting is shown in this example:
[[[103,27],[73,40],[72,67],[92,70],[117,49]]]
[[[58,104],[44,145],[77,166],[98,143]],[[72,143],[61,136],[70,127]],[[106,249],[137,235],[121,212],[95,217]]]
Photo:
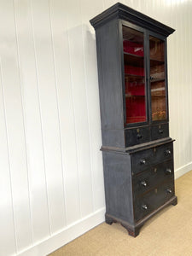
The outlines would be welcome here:
[[[151,166],[164,160],[171,160],[173,156],[172,143],[166,143],[154,148],[143,149],[131,154],[132,172],[136,174],[150,169]]]

